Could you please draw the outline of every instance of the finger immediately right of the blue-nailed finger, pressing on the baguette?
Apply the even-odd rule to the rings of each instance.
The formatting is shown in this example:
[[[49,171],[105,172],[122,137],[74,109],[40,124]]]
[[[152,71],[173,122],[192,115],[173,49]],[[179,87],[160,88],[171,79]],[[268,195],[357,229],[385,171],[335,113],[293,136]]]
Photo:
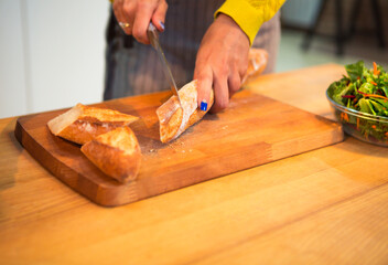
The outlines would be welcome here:
[[[227,75],[216,75],[214,73],[214,105],[211,109],[212,113],[218,113],[229,105],[229,89]]]

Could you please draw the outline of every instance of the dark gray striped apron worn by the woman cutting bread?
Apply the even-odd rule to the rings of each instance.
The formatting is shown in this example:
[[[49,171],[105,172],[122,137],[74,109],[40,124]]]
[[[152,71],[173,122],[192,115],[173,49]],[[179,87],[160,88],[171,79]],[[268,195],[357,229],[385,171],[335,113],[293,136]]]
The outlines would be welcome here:
[[[223,2],[224,0],[168,1],[165,31],[160,34],[160,42],[177,87],[193,80],[201,40],[214,21],[214,12]],[[261,26],[252,44],[269,52],[266,73],[274,70],[279,42],[280,19],[276,14]],[[107,29],[107,43],[104,99],[169,89],[169,82],[155,51],[151,45],[143,45],[123,34],[112,12]]]

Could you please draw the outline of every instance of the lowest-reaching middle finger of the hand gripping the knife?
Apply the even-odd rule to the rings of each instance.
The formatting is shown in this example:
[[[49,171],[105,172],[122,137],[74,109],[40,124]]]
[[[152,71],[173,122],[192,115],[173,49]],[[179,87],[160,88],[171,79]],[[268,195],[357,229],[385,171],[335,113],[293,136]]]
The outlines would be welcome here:
[[[132,35],[143,44],[150,44],[147,35],[147,29],[150,24],[151,17],[155,10],[157,3],[140,2],[138,3],[137,13],[133,21]]]

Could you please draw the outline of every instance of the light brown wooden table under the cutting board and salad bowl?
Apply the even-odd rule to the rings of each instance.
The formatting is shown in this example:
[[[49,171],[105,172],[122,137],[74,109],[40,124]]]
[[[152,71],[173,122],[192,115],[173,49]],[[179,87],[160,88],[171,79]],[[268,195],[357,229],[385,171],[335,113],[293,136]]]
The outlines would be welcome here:
[[[328,64],[247,87],[331,117]],[[45,171],[0,120],[1,264],[388,264],[388,148],[344,142],[119,208]]]

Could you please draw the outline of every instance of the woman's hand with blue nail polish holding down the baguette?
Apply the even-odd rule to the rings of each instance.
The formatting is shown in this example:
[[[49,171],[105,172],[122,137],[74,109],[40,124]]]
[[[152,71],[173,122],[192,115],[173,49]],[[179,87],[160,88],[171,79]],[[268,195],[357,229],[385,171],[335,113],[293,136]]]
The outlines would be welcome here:
[[[214,87],[212,113],[226,108],[241,85],[248,67],[249,39],[236,22],[220,13],[207,29],[196,56],[194,80],[198,81],[198,107],[209,102]]]

